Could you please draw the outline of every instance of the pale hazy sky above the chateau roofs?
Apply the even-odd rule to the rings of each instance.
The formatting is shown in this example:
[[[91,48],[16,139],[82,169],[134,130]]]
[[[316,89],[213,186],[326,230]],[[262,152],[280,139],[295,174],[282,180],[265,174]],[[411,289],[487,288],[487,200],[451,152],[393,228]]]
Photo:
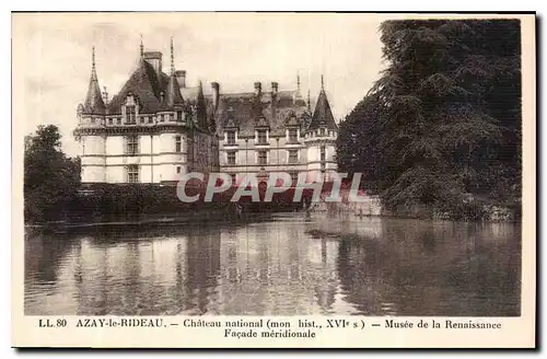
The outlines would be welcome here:
[[[14,14],[13,118],[24,135],[38,125],[60,128],[62,150],[78,154],[72,137],[77,106],[83,103],[95,47],[101,86],[112,99],[136,69],[144,50],[163,53],[170,70],[173,36],[175,67],[187,85],[217,81],[222,92],[252,92],[270,82],[294,90],[300,73],[303,95],[325,90],[337,120],[366,94],[382,70],[379,26],[385,16],[336,13],[31,13]]]

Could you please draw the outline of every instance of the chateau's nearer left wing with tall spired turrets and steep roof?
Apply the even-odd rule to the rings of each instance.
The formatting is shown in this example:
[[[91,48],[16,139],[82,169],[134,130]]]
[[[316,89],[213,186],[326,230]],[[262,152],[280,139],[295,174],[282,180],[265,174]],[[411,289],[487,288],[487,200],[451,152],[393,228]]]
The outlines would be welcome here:
[[[82,183],[168,183],[190,171],[219,171],[219,141],[201,84],[183,99],[185,79],[162,54],[143,51],[137,69],[108,102],[93,56],[74,136],[81,144]],[[184,72],[184,71],[183,71]],[[210,111],[209,111],[210,112]]]

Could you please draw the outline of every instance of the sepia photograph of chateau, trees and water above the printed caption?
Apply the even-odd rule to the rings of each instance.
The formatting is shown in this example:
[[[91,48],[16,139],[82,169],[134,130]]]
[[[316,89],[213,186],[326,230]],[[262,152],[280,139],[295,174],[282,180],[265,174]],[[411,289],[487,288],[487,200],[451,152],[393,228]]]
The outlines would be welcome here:
[[[12,21],[25,316],[521,317],[519,16]]]

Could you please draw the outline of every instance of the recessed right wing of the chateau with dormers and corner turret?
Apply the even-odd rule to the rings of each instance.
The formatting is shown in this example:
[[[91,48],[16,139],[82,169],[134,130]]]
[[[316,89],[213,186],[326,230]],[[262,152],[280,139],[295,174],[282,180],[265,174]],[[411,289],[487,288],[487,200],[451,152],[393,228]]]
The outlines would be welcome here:
[[[220,167],[240,182],[246,174],[267,177],[289,172],[293,181],[307,173],[309,181],[330,181],[336,172],[335,142],[338,127],[322,88],[311,111],[300,81],[295,91],[270,91],[255,83],[253,93],[220,95],[218,113]]]

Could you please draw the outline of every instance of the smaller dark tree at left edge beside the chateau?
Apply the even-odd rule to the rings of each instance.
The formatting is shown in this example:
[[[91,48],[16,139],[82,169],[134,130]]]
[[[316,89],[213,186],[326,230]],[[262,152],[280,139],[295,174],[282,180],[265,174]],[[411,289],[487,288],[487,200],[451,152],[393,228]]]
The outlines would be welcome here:
[[[58,219],[80,185],[80,159],[69,159],[60,150],[59,129],[38,126],[25,138],[25,221]]]

